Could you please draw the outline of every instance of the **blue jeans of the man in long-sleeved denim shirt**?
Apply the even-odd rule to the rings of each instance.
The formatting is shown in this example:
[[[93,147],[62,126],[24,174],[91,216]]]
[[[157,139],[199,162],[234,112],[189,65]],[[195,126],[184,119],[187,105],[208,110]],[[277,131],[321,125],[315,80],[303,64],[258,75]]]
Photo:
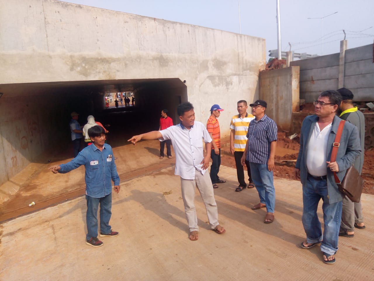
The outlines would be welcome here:
[[[109,220],[112,215],[112,194],[108,194],[105,197],[93,198],[86,195],[87,200],[87,213],[86,213],[86,223],[88,233],[86,235],[86,240],[88,241],[91,237],[97,237],[97,209],[100,203],[100,232],[108,234],[111,231],[111,226],[109,225]]]

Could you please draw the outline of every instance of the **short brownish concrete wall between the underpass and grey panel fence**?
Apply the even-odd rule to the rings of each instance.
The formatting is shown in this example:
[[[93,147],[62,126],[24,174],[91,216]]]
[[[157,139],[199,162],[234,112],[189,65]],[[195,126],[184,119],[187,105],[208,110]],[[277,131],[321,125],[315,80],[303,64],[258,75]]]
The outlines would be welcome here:
[[[266,114],[282,130],[291,130],[292,112],[300,109],[299,81],[298,66],[260,72],[260,99],[266,100]]]

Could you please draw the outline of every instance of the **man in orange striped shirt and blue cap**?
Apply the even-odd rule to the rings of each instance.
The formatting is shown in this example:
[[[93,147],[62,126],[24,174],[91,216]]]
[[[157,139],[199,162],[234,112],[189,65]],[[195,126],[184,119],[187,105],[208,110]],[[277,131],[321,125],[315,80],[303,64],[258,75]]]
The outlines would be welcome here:
[[[211,107],[211,116],[206,122],[206,129],[208,130],[209,135],[212,138],[212,166],[210,171],[210,177],[212,180],[213,188],[217,188],[217,184],[221,184],[224,181],[218,177],[218,172],[220,171],[221,165],[221,133],[220,133],[220,124],[218,123],[217,118],[220,117],[222,108],[219,105],[213,105]]]

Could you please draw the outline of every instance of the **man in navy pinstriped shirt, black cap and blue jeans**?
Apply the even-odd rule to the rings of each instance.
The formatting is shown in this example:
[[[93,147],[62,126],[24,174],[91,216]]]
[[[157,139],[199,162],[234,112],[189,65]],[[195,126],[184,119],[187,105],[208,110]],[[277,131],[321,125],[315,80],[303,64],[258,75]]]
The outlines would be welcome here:
[[[264,100],[256,100],[249,106],[252,107],[255,119],[249,123],[248,141],[241,162],[244,165],[245,160],[249,161],[252,179],[260,196],[260,203],[253,206],[252,210],[266,207],[264,223],[272,223],[275,208],[273,170],[278,129],[275,122],[265,114],[267,103]]]

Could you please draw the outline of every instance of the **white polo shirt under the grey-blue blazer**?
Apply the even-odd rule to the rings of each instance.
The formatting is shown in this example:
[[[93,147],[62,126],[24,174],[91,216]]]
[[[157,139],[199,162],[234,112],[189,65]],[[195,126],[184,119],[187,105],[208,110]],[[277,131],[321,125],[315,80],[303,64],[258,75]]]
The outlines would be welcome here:
[[[306,152],[306,167],[310,175],[327,175],[327,141],[330,131],[331,124],[320,131],[318,122],[316,122]]]

